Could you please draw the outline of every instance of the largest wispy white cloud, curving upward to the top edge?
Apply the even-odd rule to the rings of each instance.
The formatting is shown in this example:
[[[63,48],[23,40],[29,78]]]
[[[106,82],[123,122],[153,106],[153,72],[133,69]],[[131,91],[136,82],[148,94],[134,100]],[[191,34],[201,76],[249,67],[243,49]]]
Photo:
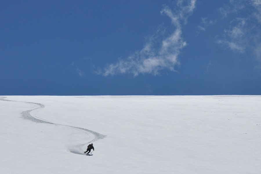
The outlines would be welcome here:
[[[158,35],[161,33],[159,29],[154,35],[148,37],[141,50],[132,53],[126,59],[119,59],[117,63],[108,65],[99,74],[113,76],[131,73],[137,76],[145,73],[158,75],[160,70],[164,69],[175,71],[174,66],[180,64],[178,55],[186,46],[186,41],[182,38],[182,23],[186,23],[187,18],[192,14],[195,3],[196,0],[190,0],[184,5],[184,1],[179,0],[177,1],[178,10],[175,12],[168,6],[164,6],[161,14],[171,19],[174,31],[168,37],[158,41]]]

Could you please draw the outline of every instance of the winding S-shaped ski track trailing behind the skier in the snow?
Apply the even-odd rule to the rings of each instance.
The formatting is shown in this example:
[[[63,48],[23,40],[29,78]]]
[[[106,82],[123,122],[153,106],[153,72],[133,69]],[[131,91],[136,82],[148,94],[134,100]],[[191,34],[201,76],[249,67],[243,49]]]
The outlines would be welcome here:
[[[0,97],[0,100],[2,100],[2,101],[8,101],[8,102],[19,102],[19,101],[7,100],[7,99],[5,99],[5,98],[7,98],[7,97]],[[36,122],[36,123],[47,123],[47,124],[54,124],[54,125],[59,125],[59,126],[66,126],[66,127],[70,127],[70,128],[75,129],[75,130],[81,131],[81,132],[83,132],[83,133],[86,133],[86,134],[88,134],[88,135],[89,135],[89,133],[90,133],[90,134],[92,134],[92,135],[94,136],[94,139],[92,139],[92,140],[89,141],[89,142],[86,142],[86,143],[84,143],[84,144],[79,144],[79,145],[76,145],[76,146],[69,146],[69,147],[68,147],[68,152],[75,153],[75,154],[79,154],[79,155],[86,155],[86,154],[83,152],[83,150],[82,150],[83,146],[86,146],[86,144],[88,144],[88,143],[95,142],[95,141],[97,141],[97,140],[99,140],[99,139],[103,139],[103,138],[107,137],[106,135],[102,135],[102,134],[100,134],[100,133],[97,133],[97,132],[95,132],[95,131],[91,131],[91,130],[89,130],[89,129],[80,128],[80,127],[75,127],[75,126],[68,126],[68,125],[63,125],[63,124],[57,124],[57,123],[52,123],[52,122],[44,121],[44,119],[41,119],[41,118],[38,118],[38,117],[35,118],[36,116],[33,117],[33,116],[30,114],[30,112],[33,111],[33,110],[36,110],[36,109],[42,109],[42,108],[44,108],[45,106],[44,106],[43,104],[41,104],[41,103],[32,103],[32,102],[22,102],[22,103],[29,103],[29,104],[33,104],[34,106],[37,106],[37,105],[39,106],[39,107],[34,108],[34,109],[31,109],[31,110],[23,111],[23,112],[21,113],[23,119],[28,119],[28,120],[31,120],[31,121]]]

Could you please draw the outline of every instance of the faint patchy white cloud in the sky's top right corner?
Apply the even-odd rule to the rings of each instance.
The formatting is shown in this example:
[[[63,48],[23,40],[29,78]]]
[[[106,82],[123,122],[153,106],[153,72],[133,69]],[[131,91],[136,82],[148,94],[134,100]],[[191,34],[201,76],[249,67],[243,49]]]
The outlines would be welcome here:
[[[217,43],[239,53],[248,50],[261,63],[257,51],[261,45],[261,0],[230,0],[220,12],[229,23]]]

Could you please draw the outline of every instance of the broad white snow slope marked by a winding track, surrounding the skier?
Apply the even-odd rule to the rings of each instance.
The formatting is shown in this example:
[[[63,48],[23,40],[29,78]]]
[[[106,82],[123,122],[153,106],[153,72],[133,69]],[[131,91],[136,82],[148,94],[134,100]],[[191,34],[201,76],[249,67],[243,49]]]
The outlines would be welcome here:
[[[261,96],[2,96],[0,173],[260,174],[260,106]]]

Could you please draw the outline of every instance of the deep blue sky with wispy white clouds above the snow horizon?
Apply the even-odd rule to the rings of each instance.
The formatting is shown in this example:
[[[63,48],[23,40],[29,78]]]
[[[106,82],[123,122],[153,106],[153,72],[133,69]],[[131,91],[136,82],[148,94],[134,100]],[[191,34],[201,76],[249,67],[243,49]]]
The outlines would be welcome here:
[[[261,95],[261,0],[1,1],[1,95]]]

